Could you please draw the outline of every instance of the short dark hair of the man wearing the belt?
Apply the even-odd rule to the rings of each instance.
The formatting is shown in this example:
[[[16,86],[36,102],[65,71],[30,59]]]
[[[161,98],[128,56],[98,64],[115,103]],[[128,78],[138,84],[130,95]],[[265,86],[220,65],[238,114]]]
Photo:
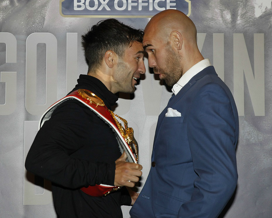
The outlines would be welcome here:
[[[93,25],[89,32],[81,37],[88,60],[88,72],[94,73],[100,67],[107,50],[123,57],[125,49],[131,43],[142,42],[143,30],[127,26],[116,19],[107,19]]]

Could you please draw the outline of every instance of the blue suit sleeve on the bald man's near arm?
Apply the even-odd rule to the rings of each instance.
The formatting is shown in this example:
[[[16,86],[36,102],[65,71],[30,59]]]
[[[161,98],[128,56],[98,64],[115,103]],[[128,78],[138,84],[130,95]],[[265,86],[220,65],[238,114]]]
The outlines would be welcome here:
[[[218,217],[237,185],[235,116],[225,90],[203,86],[194,98],[187,136],[194,171],[194,192],[178,217]]]

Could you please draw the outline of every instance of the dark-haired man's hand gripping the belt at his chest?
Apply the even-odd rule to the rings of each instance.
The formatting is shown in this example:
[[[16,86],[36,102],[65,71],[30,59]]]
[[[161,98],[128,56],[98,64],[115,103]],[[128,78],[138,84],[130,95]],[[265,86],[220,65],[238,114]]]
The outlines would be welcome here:
[[[123,152],[115,161],[115,186],[134,187],[135,182],[138,182],[139,177],[142,175],[142,165],[126,162],[126,158],[126,152]]]

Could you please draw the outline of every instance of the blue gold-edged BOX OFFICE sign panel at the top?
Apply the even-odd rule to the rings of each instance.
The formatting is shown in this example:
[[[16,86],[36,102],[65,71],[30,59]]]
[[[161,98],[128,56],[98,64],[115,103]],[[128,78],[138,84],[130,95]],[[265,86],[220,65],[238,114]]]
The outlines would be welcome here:
[[[166,9],[191,14],[189,0],[60,0],[64,17],[152,17]]]

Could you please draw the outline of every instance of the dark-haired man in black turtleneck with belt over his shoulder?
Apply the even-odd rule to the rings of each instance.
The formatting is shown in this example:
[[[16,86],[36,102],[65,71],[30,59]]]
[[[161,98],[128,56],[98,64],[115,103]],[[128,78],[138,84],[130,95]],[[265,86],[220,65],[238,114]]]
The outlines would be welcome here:
[[[94,25],[82,36],[88,75],[41,118],[25,167],[52,181],[58,217],[122,217],[120,206],[138,197],[122,187],[133,187],[142,174],[130,149],[122,154],[133,131],[124,131],[111,107],[114,94],[133,93],[146,71],[142,36],[115,19]],[[134,163],[126,162],[129,154]]]

